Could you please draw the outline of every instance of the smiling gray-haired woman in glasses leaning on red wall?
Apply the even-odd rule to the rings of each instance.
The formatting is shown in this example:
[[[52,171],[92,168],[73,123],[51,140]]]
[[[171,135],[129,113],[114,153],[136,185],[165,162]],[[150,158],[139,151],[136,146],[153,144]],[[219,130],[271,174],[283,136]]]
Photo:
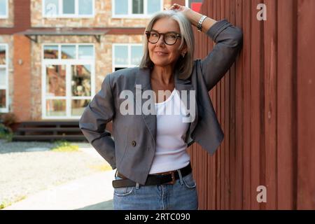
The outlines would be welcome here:
[[[191,25],[216,42],[202,60],[193,60]],[[197,209],[186,148],[197,141],[213,154],[221,144],[223,132],[208,92],[235,62],[241,42],[241,30],[227,20],[217,22],[174,4],[146,27],[141,65],[106,76],[80,128],[117,168],[114,209]],[[160,97],[161,90],[172,94]],[[105,130],[111,120],[115,140]]]

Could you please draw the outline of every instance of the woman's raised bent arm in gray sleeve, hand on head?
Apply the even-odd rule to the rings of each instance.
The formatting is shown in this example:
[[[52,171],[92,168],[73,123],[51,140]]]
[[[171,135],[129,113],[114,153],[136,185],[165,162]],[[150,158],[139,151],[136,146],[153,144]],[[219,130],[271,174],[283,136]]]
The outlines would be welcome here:
[[[196,27],[202,18],[202,14],[178,4],[174,4],[170,9],[181,11]],[[233,26],[228,20],[216,21],[211,18],[202,22],[202,31],[216,43],[207,57],[196,61],[202,71],[207,89],[211,90],[235,62],[241,50],[243,33],[239,27]],[[205,43],[197,44],[204,45]]]

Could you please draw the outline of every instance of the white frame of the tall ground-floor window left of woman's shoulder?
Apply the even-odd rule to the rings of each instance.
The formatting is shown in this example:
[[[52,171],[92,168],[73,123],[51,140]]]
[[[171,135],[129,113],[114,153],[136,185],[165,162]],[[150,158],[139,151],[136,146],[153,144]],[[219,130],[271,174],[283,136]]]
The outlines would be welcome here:
[[[58,58],[57,59],[44,59],[44,46],[57,45]],[[61,59],[61,46],[62,45],[76,45],[76,59]],[[78,46],[79,45],[92,45],[94,49],[93,59],[78,59]],[[94,43],[42,43],[41,44],[41,60],[42,60],[42,82],[41,82],[41,117],[43,120],[59,119],[59,120],[78,120],[80,116],[71,116],[71,100],[72,99],[91,99],[95,94],[95,44]],[[64,97],[47,97],[46,96],[46,71],[47,65],[66,65],[66,96]],[[91,96],[90,97],[74,97],[71,96],[71,66],[76,64],[90,64],[91,65]],[[46,115],[46,100],[47,99],[65,99],[66,100],[66,116],[47,116]]]

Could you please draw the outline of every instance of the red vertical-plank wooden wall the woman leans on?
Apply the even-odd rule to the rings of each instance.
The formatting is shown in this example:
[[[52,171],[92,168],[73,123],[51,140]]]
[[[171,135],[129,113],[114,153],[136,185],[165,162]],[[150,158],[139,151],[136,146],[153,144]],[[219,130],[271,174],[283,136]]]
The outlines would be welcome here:
[[[212,157],[189,149],[200,209],[315,209],[314,9],[314,0],[204,1],[202,14],[241,27],[244,47],[209,93],[223,144]],[[195,37],[205,57],[214,44]],[[256,200],[258,186],[267,202]]]

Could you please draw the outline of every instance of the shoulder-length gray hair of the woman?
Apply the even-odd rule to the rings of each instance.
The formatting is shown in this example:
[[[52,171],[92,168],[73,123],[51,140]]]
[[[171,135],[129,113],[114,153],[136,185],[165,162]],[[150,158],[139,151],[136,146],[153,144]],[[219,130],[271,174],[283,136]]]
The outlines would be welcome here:
[[[146,31],[150,31],[156,21],[162,18],[172,18],[179,24],[179,29],[181,31],[181,45],[179,50],[183,48],[183,45],[186,43],[187,53],[185,57],[179,57],[176,62],[176,68],[179,69],[179,77],[182,79],[189,78],[193,71],[193,57],[194,57],[194,45],[195,39],[193,34],[193,29],[190,25],[190,21],[179,11],[175,10],[165,10],[162,12],[155,13],[151,18]],[[144,56],[141,59],[140,68],[149,68],[152,69],[154,66],[151,61],[149,52],[148,52],[148,39],[144,38]]]

